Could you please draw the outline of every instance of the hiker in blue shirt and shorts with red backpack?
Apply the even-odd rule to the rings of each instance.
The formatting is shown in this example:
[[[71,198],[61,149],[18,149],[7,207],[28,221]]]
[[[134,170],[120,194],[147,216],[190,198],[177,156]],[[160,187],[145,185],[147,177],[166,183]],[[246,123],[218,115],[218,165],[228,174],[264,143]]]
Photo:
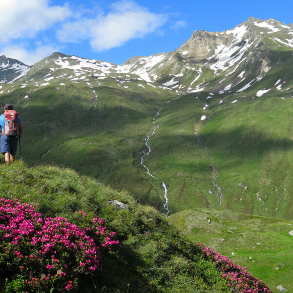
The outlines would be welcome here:
[[[21,119],[12,104],[4,106],[4,114],[0,115],[1,140],[0,151],[9,166],[15,160],[17,145],[22,133]]]

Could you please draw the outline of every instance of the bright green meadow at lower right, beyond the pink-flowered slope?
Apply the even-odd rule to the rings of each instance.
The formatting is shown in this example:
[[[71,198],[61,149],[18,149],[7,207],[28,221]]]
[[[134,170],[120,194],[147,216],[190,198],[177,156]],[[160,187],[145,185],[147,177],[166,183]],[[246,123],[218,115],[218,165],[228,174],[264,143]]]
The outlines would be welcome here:
[[[264,280],[272,292],[293,288],[293,221],[218,209],[188,209],[169,217],[189,239],[206,243]]]

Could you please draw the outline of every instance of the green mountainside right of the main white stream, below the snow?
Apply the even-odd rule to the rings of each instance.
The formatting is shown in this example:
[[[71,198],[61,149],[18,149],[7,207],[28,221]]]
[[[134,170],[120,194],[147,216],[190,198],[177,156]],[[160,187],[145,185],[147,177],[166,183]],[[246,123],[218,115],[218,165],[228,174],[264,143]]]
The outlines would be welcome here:
[[[219,174],[220,209],[292,219],[292,97],[272,92],[207,100],[207,95],[167,104],[157,119],[161,127],[150,139],[146,164],[168,184],[171,211],[218,207],[204,146]],[[207,118],[201,121],[203,115]]]

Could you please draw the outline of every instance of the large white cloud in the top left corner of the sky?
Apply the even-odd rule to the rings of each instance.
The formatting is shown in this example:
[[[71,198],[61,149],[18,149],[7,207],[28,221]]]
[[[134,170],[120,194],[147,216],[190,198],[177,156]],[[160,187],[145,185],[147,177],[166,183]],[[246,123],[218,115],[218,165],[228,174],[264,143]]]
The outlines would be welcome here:
[[[0,42],[32,38],[38,31],[63,21],[71,12],[66,6],[49,6],[48,0],[0,0]]]

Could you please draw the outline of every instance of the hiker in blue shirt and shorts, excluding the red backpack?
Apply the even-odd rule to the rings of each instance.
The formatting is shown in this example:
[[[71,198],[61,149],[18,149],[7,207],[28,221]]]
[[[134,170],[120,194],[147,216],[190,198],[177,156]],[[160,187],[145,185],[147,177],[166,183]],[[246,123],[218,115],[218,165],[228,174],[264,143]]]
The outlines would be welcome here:
[[[13,110],[12,104],[6,104],[4,106],[4,114],[8,110]],[[1,130],[3,131],[4,125],[5,125],[5,116],[4,114],[0,115],[0,126]],[[4,134],[1,134],[0,139],[0,152],[4,154],[5,156],[5,162],[7,166],[9,166],[14,160],[15,160],[15,154],[17,151],[17,145],[18,145],[18,137],[21,137],[22,133],[22,124],[21,119],[18,117],[19,121],[19,134],[18,136],[7,136]]]

